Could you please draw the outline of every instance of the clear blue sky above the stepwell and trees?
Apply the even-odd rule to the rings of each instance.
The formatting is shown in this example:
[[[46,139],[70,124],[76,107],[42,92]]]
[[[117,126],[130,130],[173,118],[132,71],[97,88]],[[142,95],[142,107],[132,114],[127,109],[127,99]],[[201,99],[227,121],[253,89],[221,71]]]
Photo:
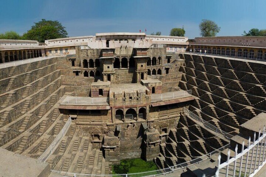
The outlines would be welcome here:
[[[202,19],[215,21],[218,36],[266,29],[266,0],[0,0],[0,33],[23,34],[42,18],[58,20],[69,36],[103,32],[161,31],[184,25],[189,38],[198,37]]]

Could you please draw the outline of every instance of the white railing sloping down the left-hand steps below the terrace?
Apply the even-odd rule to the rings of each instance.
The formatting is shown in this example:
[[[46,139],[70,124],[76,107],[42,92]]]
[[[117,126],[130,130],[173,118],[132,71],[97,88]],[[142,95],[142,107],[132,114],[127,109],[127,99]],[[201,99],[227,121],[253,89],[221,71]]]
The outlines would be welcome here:
[[[55,137],[53,142],[46,149],[46,151],[44,151],[44,153],[38,158],[38,160],[41,160],[41,161],[45,162],[48,159],[48,157],[51,154],[53,154],[53,151],[57,148],[58,144],[60,143],[62,138],[67,133],[67,131],[68,131],[69,127],[70,127],[70,124],[71,124],[71,117],[69,117],[69,119],[65,123],[64,127],[62,128],[62,130],[58,133],[58,135]]]

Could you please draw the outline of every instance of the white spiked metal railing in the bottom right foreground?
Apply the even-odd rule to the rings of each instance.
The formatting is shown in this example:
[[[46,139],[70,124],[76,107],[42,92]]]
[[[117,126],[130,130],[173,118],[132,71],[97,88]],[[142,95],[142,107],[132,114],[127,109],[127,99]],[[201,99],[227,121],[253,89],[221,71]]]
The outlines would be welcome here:
[[[261,135],[261,130],[258,133],[258,139],[256,140],[256,133],[254,133],[253,143],[248,139],[248,146],[244,149],[245,142],[242,143],[241,153],[238,154],[238,148],[236,144],[235,155],[230,159],[230,149],[227,152],[226,162],[220,164],[221,155],[218,158],[218,168],[215,176],[254,176],[266,163],[265,155],[265,141],[266,133],[265,126]],[[264,142],[263,142],[264,141]],[[234,163],[234,164],[233,164]],[[225,169],[224,169],[225,168]]]

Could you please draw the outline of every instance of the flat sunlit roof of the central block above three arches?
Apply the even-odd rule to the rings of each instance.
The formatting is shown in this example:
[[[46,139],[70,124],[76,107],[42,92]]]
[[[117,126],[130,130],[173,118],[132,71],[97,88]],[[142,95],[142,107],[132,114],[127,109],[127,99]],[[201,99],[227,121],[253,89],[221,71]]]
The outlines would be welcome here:
[[[142,86],[141,84],[113,84],[110,87],[110,93],[122,93],[125,91],[125,93],[132,93],[136,92],[137,90],[148,90],[146,86]]]

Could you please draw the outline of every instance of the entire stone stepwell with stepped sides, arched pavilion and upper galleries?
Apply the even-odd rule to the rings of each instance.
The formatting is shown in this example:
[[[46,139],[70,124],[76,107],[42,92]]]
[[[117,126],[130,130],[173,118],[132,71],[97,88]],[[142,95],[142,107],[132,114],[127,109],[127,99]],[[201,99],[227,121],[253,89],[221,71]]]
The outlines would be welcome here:
[[[155,175],[214,175],[219,154],[266,123],[265,40],[1,39],[0,174],[104,176],[142,158]]]

